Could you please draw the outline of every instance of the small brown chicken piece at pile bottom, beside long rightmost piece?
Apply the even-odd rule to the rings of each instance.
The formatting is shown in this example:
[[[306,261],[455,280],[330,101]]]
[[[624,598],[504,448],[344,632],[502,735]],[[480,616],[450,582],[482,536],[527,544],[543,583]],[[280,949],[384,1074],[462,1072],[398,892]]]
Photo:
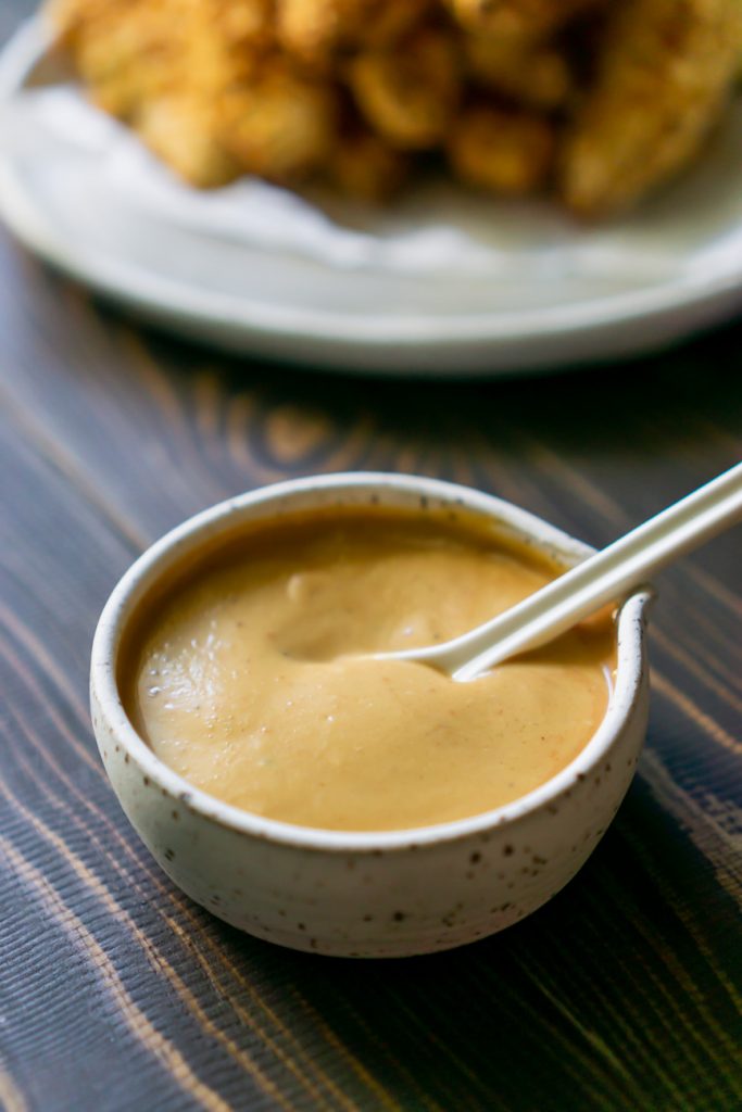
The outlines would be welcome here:
[[[448,159],[468,185],[513,196],[541,188],[553,166],[553,125],[535,112],[473,105],[448,137]]]

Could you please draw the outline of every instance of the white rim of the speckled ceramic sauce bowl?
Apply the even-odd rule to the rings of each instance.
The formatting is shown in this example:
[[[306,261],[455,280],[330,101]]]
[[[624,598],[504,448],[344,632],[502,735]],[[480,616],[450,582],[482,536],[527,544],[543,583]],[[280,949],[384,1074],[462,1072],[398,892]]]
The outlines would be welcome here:
[[[551,553],[566,562],[578,563],[594,552],[590,545],[571,537],[530,512],[502,498],[471,487],[443,479],[416,475],[397,475],[383,471],[340,471],[318,476],[287,479],[259,487],[220,502],[195,514],[170,529],[147,548],[121,576],[106,603],[92,642],[90,662],[90,698],[93,731],[102,755],[96,707],[106,725],[135,765],[164,792],[201,815],[234,832],[261,841],[305,850],[378,853],[380,851],[409,850],[423,845],[455,842],[493,828],[511,826],[527,815],[550,805],[565,791],[584,780],[586,774],[610,752],[622,735],[634,709],[644,676],[646,659],[644,647],[645,608],[653,599],[650,585],[633,592],[620,606],[616,617],[616,675],[605,716],[587,745],[576,757],[545,783],[517,800],[491,811],[453,822],[398,831],[335,831],[303,826],[276,818],[266,818],[250,811],[227,804],[174,772],[149,747],[131,724],[119,693],[117,682],[118,649],[131,614],[142,596],[167,570],[170,563],[220,533],[228,533],[236,518],[248,520],[255,507],[270,507],[289,502],[293,496],[338,492],[365,495],[395,490],[414,495],[417,499],[433,499],[439,506],[458,505],[502,523],[541,552]],[[290,507],[288,513],[310,508]],[[360,502],[358,505],[367,505]],[[332,505],[320,502],[319,505]],[[339,504],[338,504],[339,505]],[[344,503],[347,505],[347,503]],[[383,506],[383,502],[377,505]],[[273,515],[260,515],[268,518]],[[278,516],[278,514],[276,515]]]

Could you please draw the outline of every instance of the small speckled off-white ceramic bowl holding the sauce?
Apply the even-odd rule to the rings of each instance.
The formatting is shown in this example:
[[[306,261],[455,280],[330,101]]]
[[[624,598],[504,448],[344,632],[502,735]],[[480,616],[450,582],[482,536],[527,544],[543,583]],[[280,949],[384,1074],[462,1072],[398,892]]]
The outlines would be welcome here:
[[[122,634],[144,595],[205,542],[247,520],[319,506],[465,507],[573,565],[592,549],[508,503],[395,475],[297,479],[208,509],[155,544],[123,576],[92,647],[92,722],[129,820],[165,872],[228,923],[285,946],[345,956],[446,950],[509,926],[571,880],[616,813],[644,739],[644,615],[617,619],[606,716],[575,761],[528,795],[473,818],[385,833],[311,830],[228,806],[164,765],[135,732],[117,687]]]

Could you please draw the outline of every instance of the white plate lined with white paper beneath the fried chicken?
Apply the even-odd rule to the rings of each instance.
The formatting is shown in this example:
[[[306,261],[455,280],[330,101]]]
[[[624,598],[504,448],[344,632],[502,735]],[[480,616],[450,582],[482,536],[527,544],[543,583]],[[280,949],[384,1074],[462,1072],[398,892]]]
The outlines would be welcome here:
[[[742,103],[703,161],[595,230],[428,181],[389,211],[198,193],[86,105],[39,21],[0,58],[0,214],[140,316],[240,351],[495,375],[651,350],[742,305]]]

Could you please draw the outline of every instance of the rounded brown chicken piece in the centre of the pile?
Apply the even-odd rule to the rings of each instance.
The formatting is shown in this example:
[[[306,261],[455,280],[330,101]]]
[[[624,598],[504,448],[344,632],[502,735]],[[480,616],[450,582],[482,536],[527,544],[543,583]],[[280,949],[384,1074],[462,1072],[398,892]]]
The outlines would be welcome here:
[[[394,147],[425,150],[439,143],[461,95],[461,64],[449,36],[431,29],[390,50],[368,50],[348,66],[360,115]]]

